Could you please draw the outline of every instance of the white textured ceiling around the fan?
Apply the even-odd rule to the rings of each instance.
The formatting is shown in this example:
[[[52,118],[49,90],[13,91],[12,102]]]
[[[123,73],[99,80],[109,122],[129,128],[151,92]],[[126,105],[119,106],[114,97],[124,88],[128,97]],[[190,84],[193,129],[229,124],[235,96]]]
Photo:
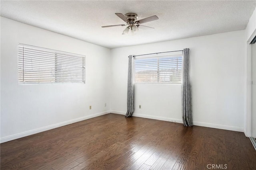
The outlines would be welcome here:
[[[256,1],[4,1],[1,16],[108,48],[210,35],[246,28]],[[125,24],[115,13],[153,15],[136,35],[122,35]]]

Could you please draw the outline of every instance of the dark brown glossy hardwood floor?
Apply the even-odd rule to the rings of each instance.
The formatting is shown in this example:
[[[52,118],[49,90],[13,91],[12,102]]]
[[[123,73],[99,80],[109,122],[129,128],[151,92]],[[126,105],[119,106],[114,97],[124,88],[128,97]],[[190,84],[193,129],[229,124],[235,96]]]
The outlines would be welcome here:
[[[244,133],[107,114],[1,144],[1,170],[255,170]]]

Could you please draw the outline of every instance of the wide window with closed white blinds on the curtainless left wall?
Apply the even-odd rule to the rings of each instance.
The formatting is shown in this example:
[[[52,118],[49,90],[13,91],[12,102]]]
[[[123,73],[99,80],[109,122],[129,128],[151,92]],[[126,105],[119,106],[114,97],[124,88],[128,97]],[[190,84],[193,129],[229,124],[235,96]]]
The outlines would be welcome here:
[[[85,83],[85,56],[18,45],[21,83]]]

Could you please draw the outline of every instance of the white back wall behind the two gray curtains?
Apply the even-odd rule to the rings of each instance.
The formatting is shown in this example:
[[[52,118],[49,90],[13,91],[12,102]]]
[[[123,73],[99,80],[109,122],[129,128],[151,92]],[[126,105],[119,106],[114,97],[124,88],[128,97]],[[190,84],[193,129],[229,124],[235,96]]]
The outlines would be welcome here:
[[[190,48],[194,124],[244,131],[244,42],[242,30],[112,49],[112,112],[126,112],[128,55]],[[181,86],[135,84],[134,115],[181,123]]]

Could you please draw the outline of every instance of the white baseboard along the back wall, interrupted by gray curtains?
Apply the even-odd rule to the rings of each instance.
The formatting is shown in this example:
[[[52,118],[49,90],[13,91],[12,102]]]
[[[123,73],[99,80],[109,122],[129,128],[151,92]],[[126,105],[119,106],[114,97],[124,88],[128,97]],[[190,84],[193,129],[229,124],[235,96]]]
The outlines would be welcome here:
[[[116,110],[112,110],[111,113],[120,114],[120,115],[126,114],[126,112],[124,112],[124,111],[116,111]],[[148,119],[156,119],[156,120],[162,120],[162,121],[170,121],[170,122],[175,122],[175,123],[183,123],[183,121],[181,119],[172,119],[172,118],[167,118],[167,117],[143,115],[143,114],[137,114],[137,113],[134,113],[132,116],[143,117],[143,118],[148,118]],[[244,129],[240,128],[240,127],[217,125],[217,124],[212,124],[212,123],[202,123],[202,122],[196,122],[196,121],[194,121],[193,124],[196,126],[202,126],[202,127],[211,127],[211,128],[215,128],[215,129],[224,129],[224,130],[229,130],[229,131],[244,132]]]

